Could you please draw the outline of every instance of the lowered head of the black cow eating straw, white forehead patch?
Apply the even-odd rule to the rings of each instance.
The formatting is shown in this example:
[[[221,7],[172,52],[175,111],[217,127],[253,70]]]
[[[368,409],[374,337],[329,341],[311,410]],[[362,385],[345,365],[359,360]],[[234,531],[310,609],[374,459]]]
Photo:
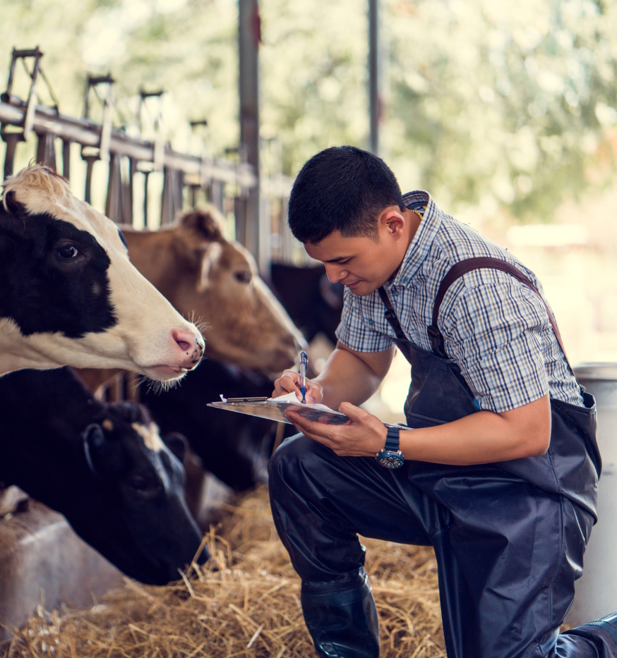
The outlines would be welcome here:
[[[78,534],[131,578],[164,585],[196,559],[202,533],[184,501],[184,449],[172,451],[145,408],[107,407],[105,418],[85,428],[83,463],[90,479],[83,506],[61,510]]]

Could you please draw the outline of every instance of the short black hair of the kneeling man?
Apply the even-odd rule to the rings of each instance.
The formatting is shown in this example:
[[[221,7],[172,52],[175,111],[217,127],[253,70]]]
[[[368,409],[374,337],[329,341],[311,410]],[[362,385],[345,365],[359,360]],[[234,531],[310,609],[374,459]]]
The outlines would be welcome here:
[[[376,155],[335,146],[309,159],[289,196],[289,229],[301,243],[316,244],[334,231],[344,237],[376,238],[378,214],[403,209],[394,173]]]

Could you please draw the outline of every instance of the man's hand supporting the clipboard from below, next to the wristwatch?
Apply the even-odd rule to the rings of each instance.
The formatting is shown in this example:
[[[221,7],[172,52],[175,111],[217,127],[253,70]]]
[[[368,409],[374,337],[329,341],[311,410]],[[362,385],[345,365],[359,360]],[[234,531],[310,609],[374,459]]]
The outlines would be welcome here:
[[[345,425],[307,420],[293,411],[288,411],[285,416],[306,437],[319,441],[340,457],[376,456],[385,445],[387,429],[383,422],[349,402],[343,402],[338,410],[349,418]]]

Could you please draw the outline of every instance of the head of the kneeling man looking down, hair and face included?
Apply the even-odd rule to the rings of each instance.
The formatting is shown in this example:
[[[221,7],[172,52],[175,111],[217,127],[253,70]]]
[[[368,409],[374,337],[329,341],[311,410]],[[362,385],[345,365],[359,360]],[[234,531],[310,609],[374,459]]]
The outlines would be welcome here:
[[[289,197],[289,227],[328,279],[358,296],[392,276],[419,224],[392,171],[375,155],[340,146],[313,156]]]

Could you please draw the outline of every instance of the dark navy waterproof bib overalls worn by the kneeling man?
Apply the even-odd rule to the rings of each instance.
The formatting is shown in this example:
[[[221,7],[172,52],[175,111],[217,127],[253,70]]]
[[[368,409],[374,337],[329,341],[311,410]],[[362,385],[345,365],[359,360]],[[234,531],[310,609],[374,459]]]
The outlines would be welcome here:
[[[489,260],[479,267],[511,267],[533,288],[514,267]],[[412,365],[409,427],[478,411],[460,369],[443,352],[436,322],[457,276],[448,273],[438,293],[432,352],[407,341],[391,305],[386,311]],[[385,291],[382,298],[388,306]],[[374,458],[336,456],[302,434],[284,441],[270,462],[270,499],[303,583],[361,568],[357,533],[431,544],[449,658],[613,656],[617,643],[604,630],[594,635],[585,625],[558,635],[582,573],[601,468],[594,399],[582,395],[585,408],[551,400],[551,444],[541,457],[472,466],[407,460],[388,470]]]

